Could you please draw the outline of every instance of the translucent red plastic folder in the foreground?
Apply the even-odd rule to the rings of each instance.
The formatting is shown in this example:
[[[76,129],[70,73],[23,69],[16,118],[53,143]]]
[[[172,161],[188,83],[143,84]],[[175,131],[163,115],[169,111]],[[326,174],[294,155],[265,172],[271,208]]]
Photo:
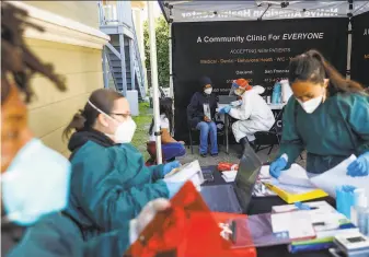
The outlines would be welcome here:
[[[231,249],[231,243],[220,236],[218,222],[232,218],[210,212],[188,182],[172,198],[171,209],[158,213],[124,256],[255,257],[255,248]]]

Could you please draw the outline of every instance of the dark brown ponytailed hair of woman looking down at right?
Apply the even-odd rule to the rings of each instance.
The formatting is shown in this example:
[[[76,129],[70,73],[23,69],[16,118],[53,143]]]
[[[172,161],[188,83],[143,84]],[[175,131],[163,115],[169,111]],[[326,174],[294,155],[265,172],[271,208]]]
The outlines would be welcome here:
[[[330,95],[337,92],[366,94],[362,85],[353,80],[346,80],[318,50],[309,50],[292,58],[288,79],[290,83],[297,80],[323,83],[324,79],[328,79]]]

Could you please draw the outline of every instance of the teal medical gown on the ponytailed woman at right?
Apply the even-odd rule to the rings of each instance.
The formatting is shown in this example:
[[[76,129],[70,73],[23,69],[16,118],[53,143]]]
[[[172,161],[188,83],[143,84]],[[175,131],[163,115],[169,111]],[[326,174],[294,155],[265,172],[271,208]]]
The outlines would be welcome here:
[[[312,114],[291,97],[282,121],[278,156],[288,155],[288,167],[303,150],[310,173],[326,172],[351,154],[369,151],[369,96],[336,93]]]

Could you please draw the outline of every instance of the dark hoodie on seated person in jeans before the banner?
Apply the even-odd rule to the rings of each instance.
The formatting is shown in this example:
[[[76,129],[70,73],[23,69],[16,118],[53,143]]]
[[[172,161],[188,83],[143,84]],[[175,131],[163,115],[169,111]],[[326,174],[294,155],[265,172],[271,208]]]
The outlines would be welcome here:
[[[204,104],[207,103],[210,106],[211,118],[215,118],[217,109],[217,97],[215,94],[207,95],[204,93],[204,86],[211,84],[212,82],[208,77],[203,77],[199,80],[200,92],[196,92],[191,98],[191,103],[187,106],[187,120],[192,128],[204,121]]]

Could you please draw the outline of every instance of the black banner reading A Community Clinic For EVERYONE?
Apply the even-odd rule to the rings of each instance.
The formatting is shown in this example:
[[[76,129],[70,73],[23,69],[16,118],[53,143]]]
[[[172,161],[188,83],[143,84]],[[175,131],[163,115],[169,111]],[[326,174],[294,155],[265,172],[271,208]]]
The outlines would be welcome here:
[[[263,85],[287,78],[290,58],[320,50],[342,73],[346,71],[347,19],[174,23],[173,81],[175,137],[188,137],[186,107],[208,75],[216,94],[229,94],[233,80]]]

